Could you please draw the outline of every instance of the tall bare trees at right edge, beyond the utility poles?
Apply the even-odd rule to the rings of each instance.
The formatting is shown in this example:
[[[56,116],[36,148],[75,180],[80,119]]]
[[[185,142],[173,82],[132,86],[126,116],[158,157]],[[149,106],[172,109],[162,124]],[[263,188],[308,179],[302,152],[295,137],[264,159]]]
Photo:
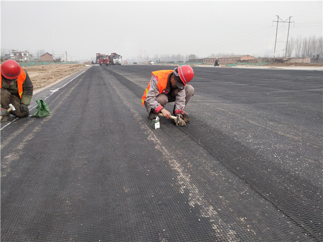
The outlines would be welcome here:
[[[311,57],[322,58],[323,37],[310,36],[302,38],[291,37],[288,40],[286,57]]]

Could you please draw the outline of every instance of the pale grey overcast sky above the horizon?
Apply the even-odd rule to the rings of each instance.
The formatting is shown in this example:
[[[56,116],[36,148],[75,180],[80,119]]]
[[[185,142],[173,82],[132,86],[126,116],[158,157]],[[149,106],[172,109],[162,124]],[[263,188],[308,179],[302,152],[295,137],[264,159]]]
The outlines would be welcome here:
[[[1,1],[1,48],[68,60],[117,52],[273,55],[289,38],[322,37],[322,1]]]

